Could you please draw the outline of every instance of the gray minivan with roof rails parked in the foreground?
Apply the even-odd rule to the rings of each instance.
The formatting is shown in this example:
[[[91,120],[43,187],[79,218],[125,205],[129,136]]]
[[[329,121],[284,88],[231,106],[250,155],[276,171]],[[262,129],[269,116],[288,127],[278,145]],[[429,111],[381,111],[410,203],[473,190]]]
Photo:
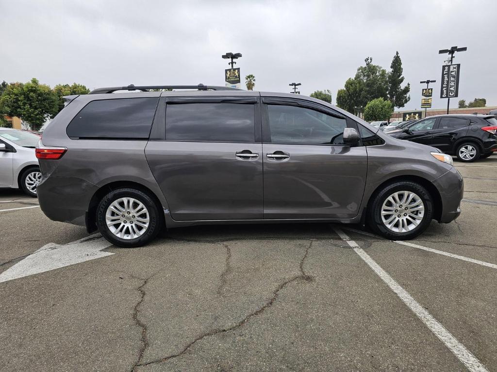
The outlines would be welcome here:
[[[224,223],[367,223],[401,240],[460,214],[450,156],[324,101],[204,85],[66,101],[36,149],[41,209],[120,247]]]

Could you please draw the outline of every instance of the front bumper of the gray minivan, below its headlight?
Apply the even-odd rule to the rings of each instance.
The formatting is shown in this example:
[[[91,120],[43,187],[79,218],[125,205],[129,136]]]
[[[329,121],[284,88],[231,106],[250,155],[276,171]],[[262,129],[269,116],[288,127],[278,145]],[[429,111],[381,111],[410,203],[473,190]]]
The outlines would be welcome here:
[[[454,221],[461,214],[461,199],[464,194],[464,180],[456,168],[433,181],[440,193],[442,211],[439,223]]]

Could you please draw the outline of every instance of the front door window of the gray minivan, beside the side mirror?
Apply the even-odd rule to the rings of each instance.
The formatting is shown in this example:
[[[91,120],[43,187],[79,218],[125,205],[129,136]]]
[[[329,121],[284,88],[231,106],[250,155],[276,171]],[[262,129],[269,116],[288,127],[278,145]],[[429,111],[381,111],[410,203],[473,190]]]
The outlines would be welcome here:
[[[296,106],[268,105],[272,143],[343,144],[345,119]]]

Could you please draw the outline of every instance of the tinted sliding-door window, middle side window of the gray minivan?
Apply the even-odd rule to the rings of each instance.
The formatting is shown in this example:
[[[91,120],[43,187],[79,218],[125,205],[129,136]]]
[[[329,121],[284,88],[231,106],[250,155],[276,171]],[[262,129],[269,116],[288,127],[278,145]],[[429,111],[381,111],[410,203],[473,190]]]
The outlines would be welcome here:
[[[254,118],[254,105],[250,104],[168,104],[166,140],[254,142]]]

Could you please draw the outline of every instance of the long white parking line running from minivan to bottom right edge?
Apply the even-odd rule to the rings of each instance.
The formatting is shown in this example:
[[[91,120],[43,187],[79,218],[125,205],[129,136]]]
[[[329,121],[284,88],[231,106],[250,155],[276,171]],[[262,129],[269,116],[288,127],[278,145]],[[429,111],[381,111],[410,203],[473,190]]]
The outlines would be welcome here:
[[[416,300],[402,288],[385,270],[383,270],[357,243],[343,233],[340,229],[334,228],[336,234],[346,241],[347,244],[362,258],[364,262],[395,292],[395,294],[411,309],[414,314],[432,331],[435,336],[442,341],[449,350],[466,366],[471,372],[489,372],[480,361],[461,344],[452,334],[445,329],[428,311],[426,311]]]

